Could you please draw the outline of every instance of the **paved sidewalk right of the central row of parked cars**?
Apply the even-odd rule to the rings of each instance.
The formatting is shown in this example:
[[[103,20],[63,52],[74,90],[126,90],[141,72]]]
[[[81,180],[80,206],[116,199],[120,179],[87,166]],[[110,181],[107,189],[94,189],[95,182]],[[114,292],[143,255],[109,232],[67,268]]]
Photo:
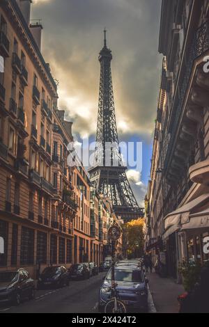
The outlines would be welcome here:
[[[160,278],[157,273],[147,273],[150,292],[157,313],[178,313],[178,295],[183,294],[183,285],[169,278]]]

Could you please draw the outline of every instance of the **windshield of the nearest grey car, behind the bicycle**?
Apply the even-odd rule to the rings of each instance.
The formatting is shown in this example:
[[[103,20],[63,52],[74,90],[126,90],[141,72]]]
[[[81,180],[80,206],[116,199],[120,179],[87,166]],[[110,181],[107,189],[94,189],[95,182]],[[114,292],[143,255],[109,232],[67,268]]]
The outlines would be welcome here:
[[[111,271],[107,274],[107,280],[111,280]],[[115,270],[116,282],[143,282],[141,271],[116,269]]]

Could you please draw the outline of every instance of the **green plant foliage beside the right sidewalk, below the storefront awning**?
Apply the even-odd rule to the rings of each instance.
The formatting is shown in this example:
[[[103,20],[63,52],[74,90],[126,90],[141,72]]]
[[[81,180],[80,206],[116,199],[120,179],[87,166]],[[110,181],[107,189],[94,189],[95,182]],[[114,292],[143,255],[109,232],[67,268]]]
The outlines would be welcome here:
[[[183,276],[183,286],[185,291],[189,292],[199,280],[201,272],[201,264],[199,262],[183,262],[180,264],[179,272]]]

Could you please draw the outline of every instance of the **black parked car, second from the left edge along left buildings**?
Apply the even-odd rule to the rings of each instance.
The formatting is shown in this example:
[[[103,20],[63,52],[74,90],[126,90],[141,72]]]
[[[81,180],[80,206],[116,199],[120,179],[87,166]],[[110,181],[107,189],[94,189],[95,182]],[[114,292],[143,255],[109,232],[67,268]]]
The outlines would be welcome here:
[[[38,279],[38,289],[64,285],[69,285],[69,273],[65,266],[49,266],[42,271]]]

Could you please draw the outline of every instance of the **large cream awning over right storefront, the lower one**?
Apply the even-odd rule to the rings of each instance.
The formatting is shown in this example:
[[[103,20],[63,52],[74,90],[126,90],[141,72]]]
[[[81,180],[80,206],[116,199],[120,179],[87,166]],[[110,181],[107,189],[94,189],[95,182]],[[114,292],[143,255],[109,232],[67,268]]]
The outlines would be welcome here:
[[[176,232],[176,230],[182,229],[184,225],[189,226],[188,224],[190,223],[190,221],[195,221],[196,216],[199,216],[201,213],[191,215],[190,212],[192,211],[192,209],[196,209],[208,199],[209,199],[209,193],[202,194],[198,198],[188,202],[186,205],[183,205],[182,207],[176,209],[174,212],[171,212],[171,214],[168,214],[164,218],[165,232],[162,235],[162,239],[167,239],[169,235],[173,234],[173,232]],[[209,218],[209,209],[208,209],[208,218]],[[194,223],[191,223],[191,226],[192,224],[194,225]],[[203,223],[201,222],[199,224],[197,223],[196,225],[200,225],[200,224],[203,225]]]

